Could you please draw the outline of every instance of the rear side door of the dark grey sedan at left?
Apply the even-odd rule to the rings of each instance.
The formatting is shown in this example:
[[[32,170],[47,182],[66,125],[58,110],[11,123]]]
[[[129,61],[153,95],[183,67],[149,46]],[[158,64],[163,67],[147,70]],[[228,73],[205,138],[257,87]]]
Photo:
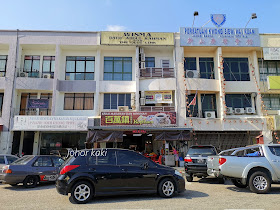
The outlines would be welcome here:
[[[40,176],[40,181],[56,180],[56,170],[50,156],[38,157],[32,165],[32,171]]]

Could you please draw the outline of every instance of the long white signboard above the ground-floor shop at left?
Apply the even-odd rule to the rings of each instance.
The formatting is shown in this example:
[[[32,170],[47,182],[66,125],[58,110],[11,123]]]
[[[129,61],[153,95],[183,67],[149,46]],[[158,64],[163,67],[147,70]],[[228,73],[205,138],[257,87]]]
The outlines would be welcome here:
[[[87,131],[84,116],[15,116],[14,131]]]

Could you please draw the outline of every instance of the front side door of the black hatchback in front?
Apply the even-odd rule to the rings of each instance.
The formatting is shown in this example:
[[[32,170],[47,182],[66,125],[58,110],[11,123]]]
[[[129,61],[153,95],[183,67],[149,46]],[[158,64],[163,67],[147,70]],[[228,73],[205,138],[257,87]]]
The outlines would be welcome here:
[[[157,168],[151,160],[136,152],[120,150],[117,164],[122,170],[126,191],[155,190]]]

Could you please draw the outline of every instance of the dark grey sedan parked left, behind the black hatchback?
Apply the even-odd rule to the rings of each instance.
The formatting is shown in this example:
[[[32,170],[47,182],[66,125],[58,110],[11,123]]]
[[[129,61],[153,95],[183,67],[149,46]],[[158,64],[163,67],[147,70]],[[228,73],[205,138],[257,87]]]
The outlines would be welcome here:
[[[27,155],[6,165],[0,171],[0,180],[12,186],[23,183],[36,187],[39,182],[56,181],[64,160],[50,155]]]

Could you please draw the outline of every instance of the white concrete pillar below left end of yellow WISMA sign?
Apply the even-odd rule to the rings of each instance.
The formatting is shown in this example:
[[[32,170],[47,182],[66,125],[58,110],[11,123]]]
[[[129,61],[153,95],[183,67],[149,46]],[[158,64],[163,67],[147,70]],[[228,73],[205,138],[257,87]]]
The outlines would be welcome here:
[[[94,116],[99,116],[100,115],[100,80],[102,77],[101,72],[102,71],[102,57],[101,57],[101,49],[98,49],[96,52],[96,57],[95,57],[95,72],[94,72],[94,79],[96,81],[96,91],[94,94]]]

